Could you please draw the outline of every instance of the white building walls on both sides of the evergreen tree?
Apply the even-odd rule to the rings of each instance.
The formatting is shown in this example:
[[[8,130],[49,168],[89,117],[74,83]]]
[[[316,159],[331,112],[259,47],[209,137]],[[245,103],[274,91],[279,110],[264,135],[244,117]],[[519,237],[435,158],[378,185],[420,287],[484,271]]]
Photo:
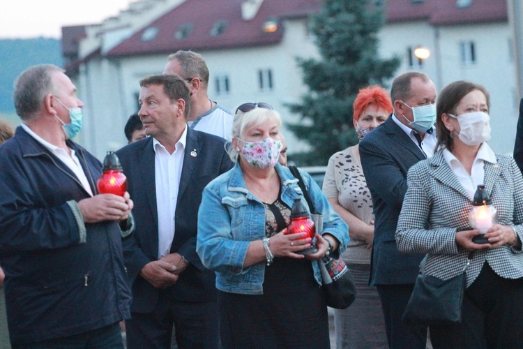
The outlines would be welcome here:
[[[286,127],[299,122],[287,103],[300,101],[307,91],[296,57],[319,57],[317,47],[308,36],[306,20],[287,20],[284,38],[278,45],[245,47],[232,50],[200,51],[211,72],[209,96],[234,112],[245,102],[266,102],[282,114],[282,133],[287,138],[289,153],[303,151],[307,144]],[[511,154],[515,141],[517,107],[515,66],[510,57],[508,23],[432,27],[427,22],[386,24],[379,33],[381,57],[400,57],[396,75],[418,70],[429,75],[440,91],[455,80],[482,84],[490,92],[492,140],[494,151]],[[476,62],[463,64],[460,43],[473,41]],[[431,56],[421,66],[409,66],[407,47],[424,46]],[[130,114],[137,112],[139,80],[162,73],[167,54],[118,59],[91,59],[81,68],[79,95],[86,104],[84,130],[78,137],[98,158],[105,151],[116,150],[127,143],[123,127]],[[273,89],[260,91],[258,70],[271,69]],[[214,77],[227,75],[229,93],[216,94]],[[390,86],[389,86],[390,87]],[[321,164],[320,164],[321,165]]]

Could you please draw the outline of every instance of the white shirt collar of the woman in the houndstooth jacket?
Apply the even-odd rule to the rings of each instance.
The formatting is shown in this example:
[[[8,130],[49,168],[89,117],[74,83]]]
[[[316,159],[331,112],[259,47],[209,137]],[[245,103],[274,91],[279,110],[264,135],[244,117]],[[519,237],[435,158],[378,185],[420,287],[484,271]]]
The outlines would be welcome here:
[[[470,200],[474,198],[474,193],[476,193],[478,185],[485,184],[484,162],[497,163],[494,151],[490,149],[486,142],[481,144],[478,154],[476,154],[476,158],[472,163],[471,174],[465,170],[462,163],[460,163],[448,149],[443,150],[443,157],[452,172],[456,175],[457,180],[460,181],[460,184],[467,190],[467,193],[469,193]]]

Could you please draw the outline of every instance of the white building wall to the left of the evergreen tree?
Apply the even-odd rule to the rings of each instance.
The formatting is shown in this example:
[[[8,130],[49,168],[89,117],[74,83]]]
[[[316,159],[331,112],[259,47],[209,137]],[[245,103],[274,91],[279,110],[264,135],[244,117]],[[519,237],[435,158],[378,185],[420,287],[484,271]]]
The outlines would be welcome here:
[[[289,153],[302,151],[300,142],[285,127],[296,123],[299,116],[291,114],[286,103],[298,102],[305,94],[301,68],[295,57],[317,57],[317,47],[308,37],[305,20],[285,22],[284,39],[278,45],[245,47],[232,50],[199,51],[209,66],[209,97],[234,112],[245,102],[266,102],[282,114]],[[139,80],[160,74],[167,64],[167,54],[91,59],[82,67],[77,84],[84,107],[85,126],[78,141],[98,158],[108,150],[127,144],[123,128],[128,117],[137,112]],[[273,89],[259,89],[258,70],[271,69]],[[216,94],[214,77],[229,77],[229,94]]]

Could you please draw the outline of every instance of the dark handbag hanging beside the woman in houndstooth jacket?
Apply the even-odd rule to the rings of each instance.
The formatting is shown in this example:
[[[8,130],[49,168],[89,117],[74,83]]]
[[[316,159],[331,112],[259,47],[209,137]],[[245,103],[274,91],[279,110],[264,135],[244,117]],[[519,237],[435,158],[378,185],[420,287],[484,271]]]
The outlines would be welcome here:
[[[461,307],[467,281],[466,271],[472,259],[469,253],[463,272],[441,280],[418,274],[402,321],[407,325],[449,325],[461,323]]]

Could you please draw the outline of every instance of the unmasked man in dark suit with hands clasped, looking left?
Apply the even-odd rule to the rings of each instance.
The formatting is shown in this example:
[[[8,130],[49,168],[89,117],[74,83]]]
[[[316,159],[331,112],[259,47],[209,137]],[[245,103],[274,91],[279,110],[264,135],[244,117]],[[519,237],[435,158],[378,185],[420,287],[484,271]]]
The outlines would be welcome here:
[[[196,253],[204,187],[232,168],[222,138],[185,120],[190,91],[178,75],[140,82],[138,115],[150,137],[116,152],[137,198],[135,234],[123,242],[132,283],[128,348],[218,348],[215,276]]]

